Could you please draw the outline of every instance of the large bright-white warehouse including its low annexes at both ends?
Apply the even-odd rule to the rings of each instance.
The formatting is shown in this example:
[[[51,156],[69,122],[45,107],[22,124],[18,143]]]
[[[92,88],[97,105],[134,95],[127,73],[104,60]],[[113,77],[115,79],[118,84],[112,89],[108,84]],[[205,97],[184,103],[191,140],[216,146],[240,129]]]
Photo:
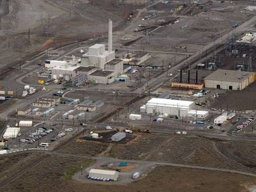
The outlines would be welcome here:
[[[140,107],[140,112],[177,115],[178,117],[205,118],[208,116],[208,111],[196,111],[193,109],[194,107],[194,101],[153,98],[145,106]]]

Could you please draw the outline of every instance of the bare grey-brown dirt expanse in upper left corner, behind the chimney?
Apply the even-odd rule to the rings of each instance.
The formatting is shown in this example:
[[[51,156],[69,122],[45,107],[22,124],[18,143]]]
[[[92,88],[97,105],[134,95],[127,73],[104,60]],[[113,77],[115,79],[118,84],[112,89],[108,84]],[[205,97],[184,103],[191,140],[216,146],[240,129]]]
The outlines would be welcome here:
[[[122,22],[133,5],[122,2],[114,8],[91,5],[89,1],[0,1],[0,67],[14,64],[49,44],[93,38]],[[112,1],[115,2],[115,1]],[[104,9],[102,9],[104,8]],[[97,23],[97,25],[95,25]],[[30,29],[30,36],[28,35]],[[30,41],[29,41],[30,39]]]

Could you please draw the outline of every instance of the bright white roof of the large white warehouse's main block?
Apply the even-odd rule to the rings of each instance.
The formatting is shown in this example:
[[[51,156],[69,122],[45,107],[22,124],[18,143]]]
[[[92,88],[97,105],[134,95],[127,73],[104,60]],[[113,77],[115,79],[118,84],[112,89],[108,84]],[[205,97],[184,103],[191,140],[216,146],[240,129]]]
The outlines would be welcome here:
[[[153,98],[147,102],[147,105],[151,106],[166,106],[166,107],[189,107],[190,104],[193,104],[194,101],[182,101],[182,100],[174,100],[174,99],[161,99],[161,98]]]

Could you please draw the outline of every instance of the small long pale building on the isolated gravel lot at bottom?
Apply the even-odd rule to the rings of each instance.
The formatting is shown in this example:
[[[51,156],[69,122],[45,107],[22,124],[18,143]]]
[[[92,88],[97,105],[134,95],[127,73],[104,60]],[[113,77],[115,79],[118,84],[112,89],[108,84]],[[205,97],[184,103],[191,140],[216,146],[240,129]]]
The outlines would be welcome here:
[[[110,178],[116,181],[119,177],[119,172],[114,170],[91,169],[89,171],[89,177]]]

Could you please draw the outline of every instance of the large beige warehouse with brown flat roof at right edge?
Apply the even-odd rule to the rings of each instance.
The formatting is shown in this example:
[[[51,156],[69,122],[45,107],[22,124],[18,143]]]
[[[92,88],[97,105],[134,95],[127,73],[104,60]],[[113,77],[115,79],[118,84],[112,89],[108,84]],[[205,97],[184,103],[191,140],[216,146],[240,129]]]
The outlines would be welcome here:
[[[204,79],[206,88],[243,90],[255,81],[255,72],[218,69]]]

